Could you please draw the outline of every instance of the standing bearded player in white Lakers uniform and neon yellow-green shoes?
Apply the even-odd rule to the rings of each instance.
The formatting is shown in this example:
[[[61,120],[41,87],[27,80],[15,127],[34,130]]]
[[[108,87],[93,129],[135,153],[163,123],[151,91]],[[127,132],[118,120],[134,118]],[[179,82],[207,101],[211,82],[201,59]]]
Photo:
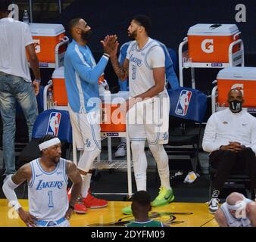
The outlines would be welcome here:
[[[130,109],[128,132],[137,191],[146,191],[147,140],[161,179],[158,197],[151,206],[164,206],[174,199],[170,188],[168,157],[163,147],[163,144],[168,143],[170,101],[165,88],[164,51],[158,42],[148,36],[150,28],[151,20],[147,16],[133,17],[128,35],[135,41],[130,43],[122,67],[117,60],[117,51],[111,53],[111,63],[119,79],[129,77],[130,80],[130,100],[126,102],[126,108]],[[105,44],[110,37],[105,38]],[[143,113],[144,110],[146,113]],[[151,122],[152,119],[154,122]],[[131,207],[122,209],[122,212],[131,214]]]

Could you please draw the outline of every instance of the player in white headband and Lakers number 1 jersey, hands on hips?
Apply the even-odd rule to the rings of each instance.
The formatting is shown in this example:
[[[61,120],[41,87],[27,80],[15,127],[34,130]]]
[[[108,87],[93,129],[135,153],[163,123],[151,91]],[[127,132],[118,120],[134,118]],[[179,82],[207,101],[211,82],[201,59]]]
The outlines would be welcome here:
[[[27,163],[3,185],[3,191],[20,219],[29,227],[67,227],[80,194],[82,178],[74,163],[61,158],[61,141],[53,135],[42,138],[42,157]],[[67,199],[67,179],[73,182],[70,202]],[[30,211],[24,211],[14,188],[28,182]]]

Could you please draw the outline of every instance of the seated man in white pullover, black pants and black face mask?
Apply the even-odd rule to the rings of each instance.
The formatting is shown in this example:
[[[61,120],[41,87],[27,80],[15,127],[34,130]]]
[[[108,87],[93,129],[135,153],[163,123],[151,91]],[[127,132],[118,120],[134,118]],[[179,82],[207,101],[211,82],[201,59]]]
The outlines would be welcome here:
[[[231,170],[248,172],[251,188],[256,191],[256,119],[242,109],[242,92],[231,89],[229,108],[211,115],[204,131],[202,147],[210,153],[210,164],[217,170],[213,179],[213,193],[209,212],[218,209],[220,189]]]

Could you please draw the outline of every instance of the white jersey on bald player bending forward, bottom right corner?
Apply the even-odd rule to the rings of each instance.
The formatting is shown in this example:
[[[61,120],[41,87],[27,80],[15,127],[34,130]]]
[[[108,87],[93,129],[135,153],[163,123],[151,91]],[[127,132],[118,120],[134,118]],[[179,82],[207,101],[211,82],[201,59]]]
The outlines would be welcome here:
[[[251,203],[252,200],[249,200],[248,198],[245,199],[245,203]],[[229,227],[251,227],[251,221],[246,219],[236,219],[229,213],[229,209],[226,206],[226,203],[223,203],[220,206],[220,209],[223,211],[226,217],[226,222],[229,225]]]

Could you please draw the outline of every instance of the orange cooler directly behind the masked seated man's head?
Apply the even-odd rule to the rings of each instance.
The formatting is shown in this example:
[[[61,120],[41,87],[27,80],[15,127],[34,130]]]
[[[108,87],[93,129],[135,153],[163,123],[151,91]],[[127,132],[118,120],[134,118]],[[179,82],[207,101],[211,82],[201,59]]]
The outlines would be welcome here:
[[[244,107],[256,107],[256,67],[227,67],[217,74],[218,103],[228,106],[226,99],[230,89],[242,91]]]

